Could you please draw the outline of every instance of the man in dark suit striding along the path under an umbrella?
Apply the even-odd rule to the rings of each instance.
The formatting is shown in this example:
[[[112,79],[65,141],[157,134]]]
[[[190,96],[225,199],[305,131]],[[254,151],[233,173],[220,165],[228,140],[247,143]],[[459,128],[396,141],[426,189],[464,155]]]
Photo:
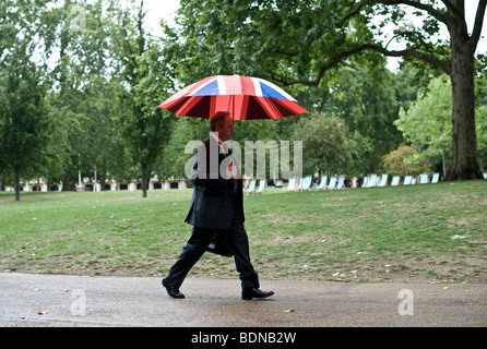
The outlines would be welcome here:
[[[191,173],[194,190],[186,218],[193,226],[192,234],[163,279],[163,286],[170,297],[185,298],[179,287],[205,252],[215,231],[218,231],[226,237],[228,250],[234,255],[240,275],[242,299],[270,297],[274,292],[259,289],[259,277],[250,263],[249,239],[243,228],[242,181],[223,144],[231,140],[234,133],[230,115],[215,113],[211,119],[211,131],[210,137],[197,148],[194,155]]]

